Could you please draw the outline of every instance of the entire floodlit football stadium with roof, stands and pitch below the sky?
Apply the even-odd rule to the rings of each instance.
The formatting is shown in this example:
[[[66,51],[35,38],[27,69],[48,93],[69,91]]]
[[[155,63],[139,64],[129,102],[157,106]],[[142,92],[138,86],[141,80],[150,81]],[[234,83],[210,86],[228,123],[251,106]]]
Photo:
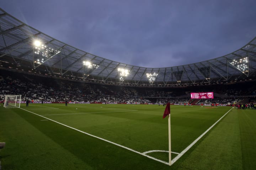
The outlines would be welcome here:
[[[146,68],[0,8],[0,105],[2,170],[255,169],[256,37],[218,58]]]

